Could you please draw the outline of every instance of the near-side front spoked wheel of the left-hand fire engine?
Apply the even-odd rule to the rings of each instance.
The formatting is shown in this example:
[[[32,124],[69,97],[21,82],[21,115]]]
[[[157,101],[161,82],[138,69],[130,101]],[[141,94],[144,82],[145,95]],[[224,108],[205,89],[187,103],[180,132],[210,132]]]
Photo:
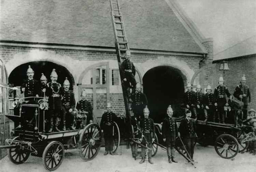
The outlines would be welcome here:
[[[44,168],[50,171],[56,170],[62,163],[64,156],[64,146],[60,142],[48,143],[43,152]]]

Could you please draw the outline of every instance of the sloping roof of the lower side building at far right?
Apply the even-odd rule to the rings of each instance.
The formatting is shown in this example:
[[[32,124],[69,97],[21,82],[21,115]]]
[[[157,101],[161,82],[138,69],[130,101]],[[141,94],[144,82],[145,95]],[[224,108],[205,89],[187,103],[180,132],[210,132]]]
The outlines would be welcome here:
[[[214,55],[213,60],[216,61],[251,54],[256,54],[256,35],[217,53]]]

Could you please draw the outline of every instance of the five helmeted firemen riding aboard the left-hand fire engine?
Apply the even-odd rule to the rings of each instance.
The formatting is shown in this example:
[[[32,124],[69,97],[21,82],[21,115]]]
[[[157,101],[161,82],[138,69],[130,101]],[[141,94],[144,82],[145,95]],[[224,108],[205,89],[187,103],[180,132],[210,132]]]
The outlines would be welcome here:
[[[46,76],[42,73],[40,82],[33,78],[34,71],[31,66],[28,66],[27,70],[28,78],[24,80],[20,87],[21,93],[24,92],[24,97],[29,98],[27,103],[33,104],[34,97],[48,97],[48,112],[46,120],[48,121],[49,127],[48,132],[59,132],[60,130],[73,130],[73,121],[76,113],[77,115],[84,114],[86,118],[86,124],[92,123],[93,112],[92,106],[89,101],[86,100],[86,91],[82,91],[82,100],[77,102],[75,107],[75,98],[73,91],[70,90],[70,82],[66,77],[63,82],[63,86],[57,82],[58,74],[55,69],[51,73],[51,82],[47,83]],[[22,120],[19,122],[17,129],[23,128],[28,121],[28,117],[33,114],[29,109],[26,109],[26,115],[22,115]],[[60,123],[59,123],[60,119]],[[58,127],[60,124],[61,127]],[[78,126],[76,126],[78,127]],[[35,130],[38,128],[35,127]]]

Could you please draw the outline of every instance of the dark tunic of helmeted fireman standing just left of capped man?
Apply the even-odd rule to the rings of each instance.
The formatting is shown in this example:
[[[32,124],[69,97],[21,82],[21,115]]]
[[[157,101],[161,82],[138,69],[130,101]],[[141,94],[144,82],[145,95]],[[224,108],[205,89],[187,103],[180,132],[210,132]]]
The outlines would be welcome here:
[[[163,139],[166,138],[166,146],[174,147],[176,137],[178,136],[178,128],[175,118],[168,116],[163,119],[162,134]]]

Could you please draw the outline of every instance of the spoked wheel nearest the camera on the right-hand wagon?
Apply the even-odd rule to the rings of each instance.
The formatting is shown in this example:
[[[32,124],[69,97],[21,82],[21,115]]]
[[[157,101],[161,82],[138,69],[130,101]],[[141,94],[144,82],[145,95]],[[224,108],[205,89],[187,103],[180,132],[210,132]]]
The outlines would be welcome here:
[[[219,156],[230,159],[239,152],[239,144],[236,138],[230,134],[222,134],[217,137],[214,148]]]

